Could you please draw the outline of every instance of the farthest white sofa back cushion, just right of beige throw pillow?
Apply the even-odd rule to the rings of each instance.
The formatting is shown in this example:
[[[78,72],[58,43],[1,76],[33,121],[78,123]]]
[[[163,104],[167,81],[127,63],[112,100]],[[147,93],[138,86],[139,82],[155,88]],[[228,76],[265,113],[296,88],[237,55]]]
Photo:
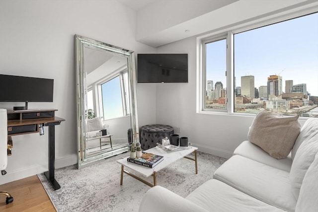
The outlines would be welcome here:
[[[292,149],[292,160],[294,160],[296,152],[302,144],[303,141],[305,141],[310,135],[318,131],[318,119],[317,118],[309,118],[304,123],[300,134],[297,137],[297,140],[294,144],[294,147]]]

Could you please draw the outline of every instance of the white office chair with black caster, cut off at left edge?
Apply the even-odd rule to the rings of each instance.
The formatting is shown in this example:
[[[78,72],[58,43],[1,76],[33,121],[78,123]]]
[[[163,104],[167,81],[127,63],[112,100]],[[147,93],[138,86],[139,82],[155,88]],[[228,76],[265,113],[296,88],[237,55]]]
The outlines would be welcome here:
[[[0,109],[0,171],[1,175],[5,175],[6,171],[4,170],[7,165],[7,114],[6,109]],[[5,203],[9,204],[13,202],[13,197],[6,192],[0,191],[0,195],[5,195]]]

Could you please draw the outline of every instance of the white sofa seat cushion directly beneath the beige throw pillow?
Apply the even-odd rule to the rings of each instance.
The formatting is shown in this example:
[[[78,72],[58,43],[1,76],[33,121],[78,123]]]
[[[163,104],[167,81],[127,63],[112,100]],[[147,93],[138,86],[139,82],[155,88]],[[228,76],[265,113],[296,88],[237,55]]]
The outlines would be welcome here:
[[[290,171],[292,166],[292,157],[291,153],[283,159],[276,159],[270,156],[267,152],[261,149],[259,146],[249,142],[243,141],[239,146],[234,150],[234,155],[239,154],[241,156],[247,157],[249,159],[264,163],[266,165],[278,168],[284,171]]]

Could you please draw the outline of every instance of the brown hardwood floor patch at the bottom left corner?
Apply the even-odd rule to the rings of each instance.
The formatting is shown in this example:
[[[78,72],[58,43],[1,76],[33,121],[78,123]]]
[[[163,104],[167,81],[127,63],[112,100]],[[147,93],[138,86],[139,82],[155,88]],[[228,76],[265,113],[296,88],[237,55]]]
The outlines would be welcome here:
[[[13,202],[5,204],[5,195],[0,195],[0,212],[56,212],[37,175],[0,185]]]

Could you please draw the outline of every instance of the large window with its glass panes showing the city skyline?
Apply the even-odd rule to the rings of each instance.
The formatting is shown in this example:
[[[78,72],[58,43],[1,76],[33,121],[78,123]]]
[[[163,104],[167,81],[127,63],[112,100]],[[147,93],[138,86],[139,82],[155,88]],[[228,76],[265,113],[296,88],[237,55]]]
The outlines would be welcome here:
[[[318,117],[318,13],[234,29],[224,37],[202,40],[202,110]],[[221,96],[215,94],[217,82]]]

